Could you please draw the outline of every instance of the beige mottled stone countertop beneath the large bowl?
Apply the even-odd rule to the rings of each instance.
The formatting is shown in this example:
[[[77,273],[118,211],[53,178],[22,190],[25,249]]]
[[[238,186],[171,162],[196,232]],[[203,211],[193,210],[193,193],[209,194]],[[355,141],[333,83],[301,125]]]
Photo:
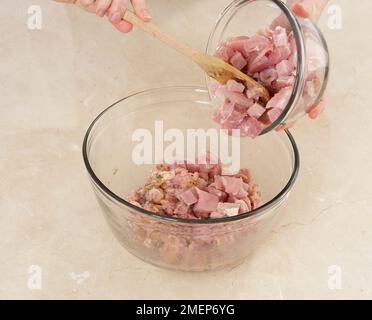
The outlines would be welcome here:
[[[203,50],[228,1],[149,3],[164,30]],[[152,87],[203,85],[199,69],[74,7],[1,1],[0,298],[372,298],[372,2],[332,3],[343,27],[327,28],[327,13],[320,23],[332,56],[327,110],[293,130],[302,167],[281,226],[238,267],[195,274],[147,265],[119,245],[80,150],[106,106]],[[27,28],[34,4],[41,30]],[[27,286],[32,265],[42,290]],[[342,271],[337,290],[331,266]],[[72,279],[84,271],[84,281]]]

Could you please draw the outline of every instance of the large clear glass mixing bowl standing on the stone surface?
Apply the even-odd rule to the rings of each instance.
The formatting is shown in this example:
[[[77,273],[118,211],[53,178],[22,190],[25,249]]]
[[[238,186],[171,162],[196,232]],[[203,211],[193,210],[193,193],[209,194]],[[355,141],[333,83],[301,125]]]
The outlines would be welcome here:
[[[157,266],[203,271],[233,266],[271,232],[299,170],[299,154],[288,131],[257,139],[239,139],[241,167],[258,183],[263,205],[235,217],[214,220],[171,218],[136,207],[126,199],[142,186],[153,165],[132,159],[133,133],[218,128],[211,120],[208,91],[169,87],[129,96],[103,111],[90,125],[83,157],[107,223],[119,242],[137,257]],[[232,139],[229,137],[229,139]],[[151,146],[155,152],[155,142]]]

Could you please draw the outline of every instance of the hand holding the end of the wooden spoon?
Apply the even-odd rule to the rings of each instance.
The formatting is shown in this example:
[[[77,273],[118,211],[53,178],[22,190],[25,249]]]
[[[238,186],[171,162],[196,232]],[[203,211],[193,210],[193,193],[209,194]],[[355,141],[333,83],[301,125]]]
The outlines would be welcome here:
[[[127,0],[55,0],[57,2],[71,3],[80,8],[95,13],[98,17],[107,16],[111,24],[120,32],[127,33],[133,25],[123,20],[127,8]],[[131,0],[134,12],[143,21],[150,21],[150,11],[145,0]]]

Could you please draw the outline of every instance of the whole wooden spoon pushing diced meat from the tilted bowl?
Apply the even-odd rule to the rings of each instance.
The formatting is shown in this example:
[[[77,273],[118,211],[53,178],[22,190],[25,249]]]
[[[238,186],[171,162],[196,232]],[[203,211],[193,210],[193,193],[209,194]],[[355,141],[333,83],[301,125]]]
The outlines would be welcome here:
[[[201,53],[184,43],[173,38],[169,34],[162,32],[157,26],[150,22],[144,22],[138,18],[132,11],[126,10],[124,20],[130,22],[134,26],[149,33],[153,37],[162,41],[169,47],[177,50],[179,53],[190,58],[198,64],[210,77],[216,79],[221,84],[226,84],[230,79],[238,79],[243,82],[249,89],[253,89],[260,95],[263,102],[266,104],[270,99],[270,94],[266,88],[256,80],[236,69],[232,65],[223,60]]]

